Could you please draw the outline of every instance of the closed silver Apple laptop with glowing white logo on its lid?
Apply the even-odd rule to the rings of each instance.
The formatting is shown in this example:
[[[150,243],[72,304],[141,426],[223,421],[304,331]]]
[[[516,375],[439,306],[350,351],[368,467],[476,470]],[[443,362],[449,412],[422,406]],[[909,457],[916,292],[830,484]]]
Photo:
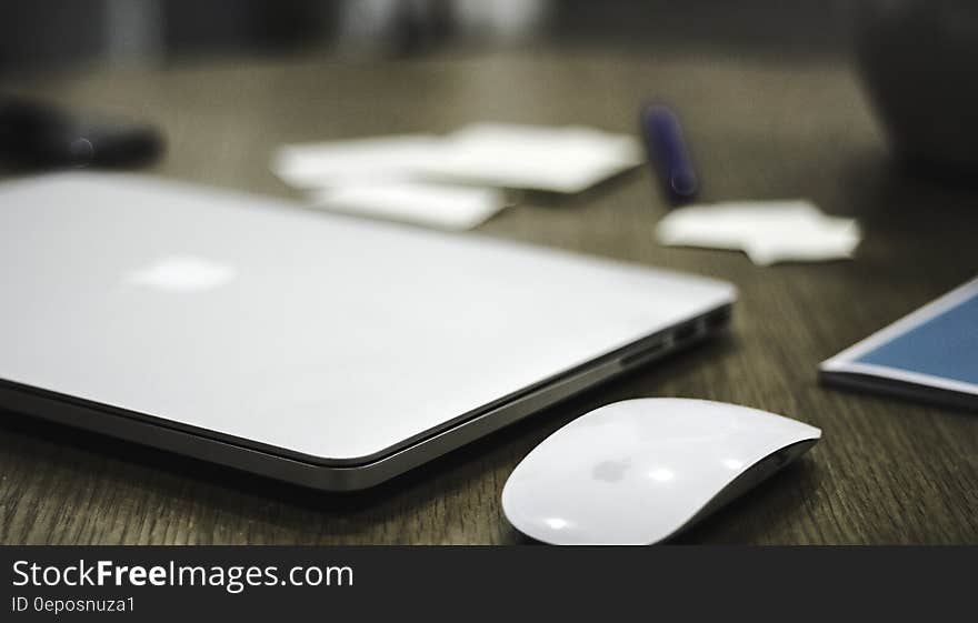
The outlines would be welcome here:
[[[735,295],[108,173],[0,184],[0,406],[323,490],[700,340]]]

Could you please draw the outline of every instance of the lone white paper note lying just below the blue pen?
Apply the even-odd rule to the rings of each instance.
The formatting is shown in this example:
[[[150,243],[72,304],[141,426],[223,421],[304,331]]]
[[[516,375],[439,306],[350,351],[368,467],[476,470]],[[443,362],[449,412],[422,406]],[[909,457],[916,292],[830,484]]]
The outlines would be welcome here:
[[[662,244],[740,249],[759,265],[850,258],[861,232],[852,219],[824,214],[807,200],[690,205],[656,229]]]

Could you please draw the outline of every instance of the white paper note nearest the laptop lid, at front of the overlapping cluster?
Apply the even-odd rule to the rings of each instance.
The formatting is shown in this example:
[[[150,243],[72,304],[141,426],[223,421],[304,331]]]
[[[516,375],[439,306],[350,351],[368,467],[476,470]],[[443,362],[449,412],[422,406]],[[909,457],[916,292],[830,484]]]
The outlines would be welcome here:
[[[496,189],[413,181],[346,183],[310,197],[320,209],[446,230],[475,228],[507,204]]]

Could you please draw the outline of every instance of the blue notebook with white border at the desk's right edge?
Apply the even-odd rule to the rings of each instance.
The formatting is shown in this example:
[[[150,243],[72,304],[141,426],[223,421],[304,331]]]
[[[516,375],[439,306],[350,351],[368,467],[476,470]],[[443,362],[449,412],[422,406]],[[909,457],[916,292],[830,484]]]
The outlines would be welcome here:
[[[824,361],[819,378],[978,409],[978,279]]]

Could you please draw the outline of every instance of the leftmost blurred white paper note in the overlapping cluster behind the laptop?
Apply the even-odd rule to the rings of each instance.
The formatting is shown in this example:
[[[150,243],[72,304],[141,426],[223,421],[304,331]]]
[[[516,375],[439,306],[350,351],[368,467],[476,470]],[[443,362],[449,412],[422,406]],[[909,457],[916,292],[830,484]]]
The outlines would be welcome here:
[[[401,180],[412,177],[421,163],[441,158],[443,151],[445,142],[433,134],[298,143],[278,149],[271,170],[300,189]]]

